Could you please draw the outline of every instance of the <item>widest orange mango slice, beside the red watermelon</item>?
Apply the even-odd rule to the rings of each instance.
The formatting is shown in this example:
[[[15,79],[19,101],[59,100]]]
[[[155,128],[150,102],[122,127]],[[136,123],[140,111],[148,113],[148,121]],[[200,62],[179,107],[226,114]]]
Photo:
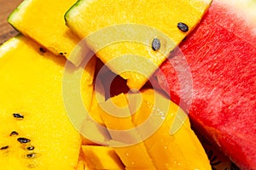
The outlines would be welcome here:
[[[162,123],[152,136],[143,141],[157,169],[211,169],[205,150],[190,128],[189,118],[177,133],[170,134],[175,116],[186,113],[170,100],[154,93],[153,89],[146,90],[142,95],[143,103],[135,114],[135,125],[139,126],[148,116],[154,118],[152,127],[156,127],[154,124],[157,122]],[[164,116],[166,105],[169,108]]]

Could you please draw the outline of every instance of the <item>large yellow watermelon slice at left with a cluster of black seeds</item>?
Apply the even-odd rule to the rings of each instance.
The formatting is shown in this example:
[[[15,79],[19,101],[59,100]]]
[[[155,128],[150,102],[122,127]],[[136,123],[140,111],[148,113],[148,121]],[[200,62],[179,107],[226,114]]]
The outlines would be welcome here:
[[[61,88],[66,59],[42,53],[40,47],[23,36],[0,47],[0,147],[9,145],[0,150],[1,169],[77,167],[81,138],[67,117]],[[15,112],[24,119],[15,119]],[[12,131],[19,135],[9,136]],[[31,139],[34,150],[26,150],[29,144],[20,144],[20,137]],[[26,158],[32,153],[35,157]]]

